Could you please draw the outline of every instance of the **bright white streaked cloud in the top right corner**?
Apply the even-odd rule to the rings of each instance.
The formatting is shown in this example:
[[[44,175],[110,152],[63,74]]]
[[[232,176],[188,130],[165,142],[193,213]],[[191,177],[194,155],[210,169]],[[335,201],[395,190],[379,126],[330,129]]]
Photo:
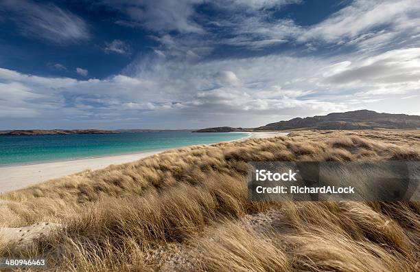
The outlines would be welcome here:
[[[326,41],[377,49],[420,32],[417,0],[357,0],[308,27],[298,41]]]

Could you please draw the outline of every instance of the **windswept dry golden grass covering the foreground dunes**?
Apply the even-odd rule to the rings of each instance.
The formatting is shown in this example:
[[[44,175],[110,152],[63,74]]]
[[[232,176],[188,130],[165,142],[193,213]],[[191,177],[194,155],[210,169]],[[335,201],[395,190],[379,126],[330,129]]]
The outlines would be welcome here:
[[[419,140],[299,131],[55,179],[0,196],[0,227],[63,226],[25,248],[2,240],[0,256],[45,256],[50,271],[418,271],[419,203],[251,203],[246,174],[247,161],[420,161]]]

